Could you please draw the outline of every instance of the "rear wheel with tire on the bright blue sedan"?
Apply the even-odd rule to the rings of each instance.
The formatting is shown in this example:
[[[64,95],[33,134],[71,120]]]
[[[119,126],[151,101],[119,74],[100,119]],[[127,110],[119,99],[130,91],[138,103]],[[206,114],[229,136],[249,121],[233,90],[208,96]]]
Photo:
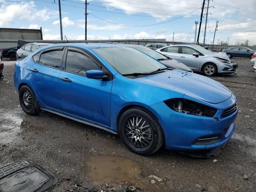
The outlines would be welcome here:
[[[20,88],[19,91],[20,106],[28,115],[36,115],[40,112],[40,107],[34,92],[27,85]]]

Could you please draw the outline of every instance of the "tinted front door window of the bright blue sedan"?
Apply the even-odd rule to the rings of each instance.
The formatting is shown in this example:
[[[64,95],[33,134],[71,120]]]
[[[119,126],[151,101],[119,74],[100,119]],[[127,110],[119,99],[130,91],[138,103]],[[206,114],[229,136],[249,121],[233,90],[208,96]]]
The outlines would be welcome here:
[[[101,68],[88,56],[74,51],[68,51],[66,71],[86,75],[88,70],[101,70]]]

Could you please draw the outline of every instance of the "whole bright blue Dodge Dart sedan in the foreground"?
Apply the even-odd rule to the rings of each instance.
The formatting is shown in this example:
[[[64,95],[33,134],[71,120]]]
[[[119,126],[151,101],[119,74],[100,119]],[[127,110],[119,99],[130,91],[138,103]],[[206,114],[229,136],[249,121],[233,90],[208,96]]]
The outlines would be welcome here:
[[[236,96],[210,78],[166,68],[122,44],[41,48],[16,62],[24,112],[45,110],[119,134],[133,152],[207,150],[235,130]]]

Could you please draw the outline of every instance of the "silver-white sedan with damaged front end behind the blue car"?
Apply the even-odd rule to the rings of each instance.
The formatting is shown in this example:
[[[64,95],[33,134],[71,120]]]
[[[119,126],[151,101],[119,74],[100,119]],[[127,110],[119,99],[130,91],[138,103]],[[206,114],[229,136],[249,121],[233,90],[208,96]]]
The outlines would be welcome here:
[[[238,66],[230,61],[226,53],[213,53],[194,44],[166,46],[156,51],[182,62],[194,72],[202,71],[206,76],[214,76],[217,73],[231,74]]]

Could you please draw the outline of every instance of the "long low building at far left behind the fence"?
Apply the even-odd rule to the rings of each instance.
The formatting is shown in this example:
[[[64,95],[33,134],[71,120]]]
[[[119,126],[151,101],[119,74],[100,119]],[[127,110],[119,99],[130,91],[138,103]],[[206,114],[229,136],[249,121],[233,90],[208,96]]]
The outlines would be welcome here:
[[[40,29],[0,28],[0,39],[4,40],[43,40],[42,27]]]

